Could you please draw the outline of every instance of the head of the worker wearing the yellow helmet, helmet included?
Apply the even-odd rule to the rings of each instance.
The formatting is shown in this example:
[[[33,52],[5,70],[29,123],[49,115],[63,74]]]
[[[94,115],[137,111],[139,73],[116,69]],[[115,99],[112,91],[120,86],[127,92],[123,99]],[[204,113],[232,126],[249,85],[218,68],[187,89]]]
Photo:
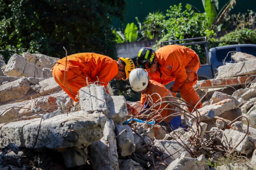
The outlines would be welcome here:
[[[129,78],[130,72],[135,68],[131,58],[120,57],[117,61],[118,73],[114,79],[126,80]]]

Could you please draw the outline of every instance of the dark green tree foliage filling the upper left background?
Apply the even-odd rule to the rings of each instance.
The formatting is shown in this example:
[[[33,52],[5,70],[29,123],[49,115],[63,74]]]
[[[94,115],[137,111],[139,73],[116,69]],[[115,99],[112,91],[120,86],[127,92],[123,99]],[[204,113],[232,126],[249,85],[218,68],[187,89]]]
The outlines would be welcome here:
[[[125,0],[0,0],[0,49],[63,57],[97,52],[115,58],[111,16],[123,20]]]

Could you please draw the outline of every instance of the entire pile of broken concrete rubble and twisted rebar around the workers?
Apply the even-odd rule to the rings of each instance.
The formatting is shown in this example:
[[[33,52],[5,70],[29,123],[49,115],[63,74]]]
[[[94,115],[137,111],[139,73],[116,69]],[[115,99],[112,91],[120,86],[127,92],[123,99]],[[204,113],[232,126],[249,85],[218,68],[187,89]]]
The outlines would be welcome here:
[[[57,58],[15,54],[7,65],[0,61],[0,167],[256,169],[256,68],[249,70],[246,57],[240,58],[221,66],[216,79],[198,81],[202,109],[189,113],[188,104],[174,97],[154,103],[178,108],[187,129],[172,131],[165,118],[153,117],[166,108],[143,110],[140,102],[110,96],[96,84],[81,88],[80,103],[73,104],[51,77]],[[248,73],[234,77],[220,70],[235,64]]]

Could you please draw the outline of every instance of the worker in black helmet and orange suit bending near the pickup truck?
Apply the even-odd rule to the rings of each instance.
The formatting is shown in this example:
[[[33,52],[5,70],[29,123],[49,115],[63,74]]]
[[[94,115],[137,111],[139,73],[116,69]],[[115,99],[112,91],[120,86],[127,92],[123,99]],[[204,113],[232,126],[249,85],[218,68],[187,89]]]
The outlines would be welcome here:
[[[193,88],[200,68],[200,60],[195,51],[181,45],[166,45],[156,51],[143,47],[137,55],[137,64],[147,70],[150,79],[163,85],[175,80],[170,89],[172,95],[176,97],[180,91],[182,99],[196,106],[196,109],[202,108],[200,98]],[[188,110],[192,112],[193,108],[188,107]]]

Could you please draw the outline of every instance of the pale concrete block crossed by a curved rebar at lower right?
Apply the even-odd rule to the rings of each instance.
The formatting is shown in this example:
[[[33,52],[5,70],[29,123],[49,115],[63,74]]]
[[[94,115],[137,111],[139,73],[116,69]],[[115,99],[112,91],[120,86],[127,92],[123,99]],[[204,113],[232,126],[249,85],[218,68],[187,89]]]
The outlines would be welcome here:
[[[225,147],[234,147],[236,144],[238,144],[242,138],[244,137],[245,133],[233,130],[233,129],[225,129],[223,132],[223,136],[221,139],[221,142],[223,146]],[[229,145],[230,143],[230,145]],[[254,149],[254,142],[253,138],[250,137],[249,135],[246,135],[244,140],[236,147],[236,151],[240,153],[251,153],[253,152]]]

